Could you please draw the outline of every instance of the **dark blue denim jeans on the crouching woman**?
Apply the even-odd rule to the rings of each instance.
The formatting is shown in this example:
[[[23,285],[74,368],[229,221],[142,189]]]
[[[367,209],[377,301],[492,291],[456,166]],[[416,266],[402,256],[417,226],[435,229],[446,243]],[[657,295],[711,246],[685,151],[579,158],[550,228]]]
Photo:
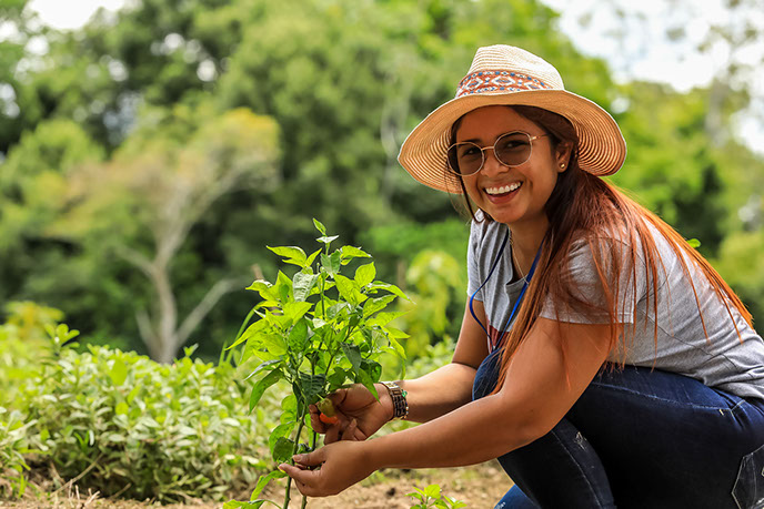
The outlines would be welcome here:
[[[497,354],[473,399],[493,390]],[[552,431],[499,461],[515,486],[496,509],[762,508],[764,401],[657,369],[603,370]]]

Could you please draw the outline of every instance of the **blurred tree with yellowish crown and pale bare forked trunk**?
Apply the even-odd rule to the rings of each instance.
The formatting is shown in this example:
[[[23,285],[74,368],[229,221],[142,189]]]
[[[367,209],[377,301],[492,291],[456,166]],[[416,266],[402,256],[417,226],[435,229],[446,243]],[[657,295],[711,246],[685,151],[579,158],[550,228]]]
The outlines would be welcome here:
[[[271,119],[238,109],[178,140],[172,139],[173,119],[151,124],[147,116],[145,129],[109,163],[72,175],[72,210],[58,232],[121,257],[149,281],[151,308],[134,309],[135,317],[151,357],[167,363],[218,301],[245,281],[219,279],[179,319],[173,262],[192,227],[222,195],[241,187],[267,193],[279,182],[279,130]]]

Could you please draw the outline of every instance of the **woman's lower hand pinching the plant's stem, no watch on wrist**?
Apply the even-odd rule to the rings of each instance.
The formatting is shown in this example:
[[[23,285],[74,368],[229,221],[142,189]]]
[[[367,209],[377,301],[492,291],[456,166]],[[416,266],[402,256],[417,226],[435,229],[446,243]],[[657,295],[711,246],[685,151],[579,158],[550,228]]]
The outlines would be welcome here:
[[[302,495],[336,495],[374,471],[365,446],[366,444],[358,441],[338,441],[306,455],[295,455],[295,466],[282,464],[279,469],[294,479]],[[321,468],[313,470],[314,467]]]

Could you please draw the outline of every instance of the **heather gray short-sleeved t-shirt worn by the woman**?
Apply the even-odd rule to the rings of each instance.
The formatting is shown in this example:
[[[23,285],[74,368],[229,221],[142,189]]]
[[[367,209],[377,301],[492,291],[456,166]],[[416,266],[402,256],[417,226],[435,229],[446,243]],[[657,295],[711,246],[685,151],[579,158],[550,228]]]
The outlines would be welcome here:
[[[501,336],[500,329],[504,328],[524,284],[524,279],[510,283],[513,269],[509,243],[500,256],[506,232],[507,226],[502,223],[473,221],[468,250],[468,292],[470,296],[476,292],[475,299],[483,303],[487,318],[487,324],[483,325],[487,327],[493,343]],[[735,330],[730,312],[695,263],[685,256],[690,271],[687,275],[668,242],[652,226],[651,232],[665,267],[664,271],[659,264],[657,306],[655,309],[653,295],[649,295],[647,287],[652,288],[652,284],[647,285],[645,282],[642,250],[636,246],[636,291],[633,288],[632,269],[629,267],[621,274],[622,291],[616,298],[619,319],[631,326],[625,327],[625,337],[611,352],[609,360],[677,373],[695,378],[708,387],[741,397],[764,399],[762,337],[745,323],[734,307],[730,306],[737,326]],[[603,242],[617,243],[616,246],[622,248],[623,254],[634,248],[619,240],[606,238]],[[496,268],[486,281],[496,259]],[[595,307],[604,301],[587,243],[580,241],[573,244],[569,269],[571,281],[574,282],[583,301],[594,304]],[[483,283],[485,285],[479,291]],[[698,302],[707,337],[703,330]],[[574,309],[560,308],[551,301],[544,305],[540,316],[570,323],[609,322],[604,313],[582,314]]]

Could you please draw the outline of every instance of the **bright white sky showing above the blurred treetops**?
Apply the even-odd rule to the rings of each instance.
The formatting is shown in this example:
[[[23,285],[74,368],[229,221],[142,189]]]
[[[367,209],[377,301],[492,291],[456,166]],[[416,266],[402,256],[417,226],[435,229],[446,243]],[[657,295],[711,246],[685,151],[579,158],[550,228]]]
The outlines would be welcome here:
[[[77,29],[84,24],[97,9],[103,7],[117,10],[132,0],[31,0],[29,8],[36,10],[46,24],[58,29]],[[705,86],[718,71],[720,63],[727,54],[718,48],[711,53],[701,54],[694,48],[708,33],[713,22],[730,20],[723,0],[702,0],[684,2],[682,9],[674,9],[677,0],[640,0],[619,1],[622,9],[632,16],[627,30],[613,32],[613,27],[621,27],[613,18],[613,9],[595,8],[603,0],[543,0],[561,12],[560,28],[573,43],[585,54],[605,59],[613,70],[616,80],[629,81],[643,79],[670,83],[680,92],[693,86]],[[694,9],[694,11],[693,11]],[[587,12],[595,12],[589,24],[582,26],[582,18]],[[678,12],[685,14],[682,19]],[[746,21],[753,21],[764,30],[764,9]],[[688,16],[688,17],[686,17]],[[740,20],[737,20],[740,21]],[[672,42],[666,29],[681,27],[684,38],[681,43]],[[762,58],[761,50],[738,54],[745,60]],[[764,72],[751,78],[748,88],[755,98],[753,108],[758,109],[760,116],[742,116],[738,131],[752,149],[764,153]]]

